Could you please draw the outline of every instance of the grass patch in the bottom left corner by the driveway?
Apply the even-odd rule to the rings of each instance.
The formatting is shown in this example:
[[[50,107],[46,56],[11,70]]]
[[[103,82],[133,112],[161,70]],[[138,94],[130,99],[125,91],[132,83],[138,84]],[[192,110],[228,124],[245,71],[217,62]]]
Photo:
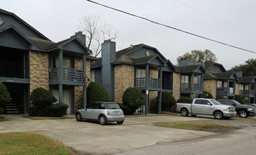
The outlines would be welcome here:
[[[0,154],[75,154],[47,135],[35,132],[0,133]]]

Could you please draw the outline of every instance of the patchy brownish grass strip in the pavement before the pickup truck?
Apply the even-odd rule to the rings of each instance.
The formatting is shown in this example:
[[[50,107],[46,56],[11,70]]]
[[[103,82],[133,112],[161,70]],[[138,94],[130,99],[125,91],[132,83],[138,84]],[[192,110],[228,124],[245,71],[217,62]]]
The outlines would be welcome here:
[[[157,122],[154,125],[166,128],[176,128],[184,130],[200,130],[200,131],[219,131],[224,130],[226,125],[224,123],[202,123],[202,122],[188,122],[188,121],[172,121],[172,122]]]

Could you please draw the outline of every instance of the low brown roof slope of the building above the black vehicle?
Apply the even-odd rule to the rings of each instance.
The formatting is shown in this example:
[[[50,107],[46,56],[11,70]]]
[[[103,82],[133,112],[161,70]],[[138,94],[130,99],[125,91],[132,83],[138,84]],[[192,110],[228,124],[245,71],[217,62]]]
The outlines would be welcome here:
[[[207,71],[207,75],[204,75],[204,79],[228,79],[231,78],[233,75],[237,78],[236,73],[232,71],[223,73]]]

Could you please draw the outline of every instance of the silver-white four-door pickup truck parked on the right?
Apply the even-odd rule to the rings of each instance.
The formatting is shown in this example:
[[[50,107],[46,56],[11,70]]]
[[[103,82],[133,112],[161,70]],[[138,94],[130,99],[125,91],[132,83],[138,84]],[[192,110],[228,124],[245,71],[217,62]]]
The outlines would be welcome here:
[[[176,111],[181,112],[181,116],[195,117],[197,115],[210,115],[214,118],[232,118],[236,116],[236,108],[234,106],[227,106],[220,104],[214,99],[194,99],[192,104],[177,103]]]

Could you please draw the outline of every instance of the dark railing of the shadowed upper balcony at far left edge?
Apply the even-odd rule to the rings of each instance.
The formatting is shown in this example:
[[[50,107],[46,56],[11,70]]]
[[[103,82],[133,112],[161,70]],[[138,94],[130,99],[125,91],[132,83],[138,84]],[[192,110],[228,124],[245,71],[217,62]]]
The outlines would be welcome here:
[[[23,63],[9,63],[0,61],[0,77],[24,78],[25,69]]]

